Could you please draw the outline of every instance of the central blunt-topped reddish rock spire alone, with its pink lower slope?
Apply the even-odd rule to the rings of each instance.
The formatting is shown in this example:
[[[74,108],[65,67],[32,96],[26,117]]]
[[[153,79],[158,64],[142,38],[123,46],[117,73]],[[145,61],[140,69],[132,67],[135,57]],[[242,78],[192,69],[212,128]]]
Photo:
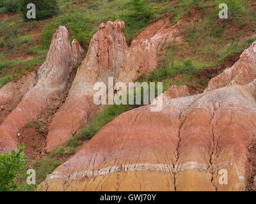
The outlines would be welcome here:
[[[118,77],[120,65],[127,54],[127,44],[121,20],[100,25],[94,34],[86,58],[78,68],[76,78],[68,94],[67,101],[54,115],[47,135],[47,151],[65,144],[77,129],[83,128],[97,113],[93,103],[93,85],[104,82],[108,77]]]

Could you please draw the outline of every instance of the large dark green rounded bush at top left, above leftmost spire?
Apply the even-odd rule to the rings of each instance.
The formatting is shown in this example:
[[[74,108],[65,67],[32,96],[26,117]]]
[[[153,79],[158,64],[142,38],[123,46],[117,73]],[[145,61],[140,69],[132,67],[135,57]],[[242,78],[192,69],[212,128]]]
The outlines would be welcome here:
[[[52,17],[58,11],[58,5],[56,0],[20,0],[20,11],[23,15],[24,21],[34,20],[27,18],[27,5],[33,3],[36,6],[36,19],[44,20],[46,18]]]

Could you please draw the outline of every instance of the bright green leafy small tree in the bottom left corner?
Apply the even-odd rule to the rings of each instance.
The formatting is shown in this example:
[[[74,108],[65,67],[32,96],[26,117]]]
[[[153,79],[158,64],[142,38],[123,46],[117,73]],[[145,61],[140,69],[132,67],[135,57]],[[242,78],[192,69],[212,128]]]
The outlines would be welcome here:
[[[18,145],[19,152],[0,154],[0,191],[18,191],[28,187],[28,184],[19,185],[19,180],[25,176],[28,157],[24,156],[24,145]]]

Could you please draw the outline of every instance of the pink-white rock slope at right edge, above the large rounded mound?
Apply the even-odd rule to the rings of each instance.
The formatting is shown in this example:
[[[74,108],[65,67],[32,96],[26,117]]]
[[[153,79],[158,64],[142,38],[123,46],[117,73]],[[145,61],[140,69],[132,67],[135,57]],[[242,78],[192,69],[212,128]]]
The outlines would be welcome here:
[[[240,59],[221,75],[212,78],[205,92],[227,85],[246,85],[256,78],[256,41],[246,49]]]

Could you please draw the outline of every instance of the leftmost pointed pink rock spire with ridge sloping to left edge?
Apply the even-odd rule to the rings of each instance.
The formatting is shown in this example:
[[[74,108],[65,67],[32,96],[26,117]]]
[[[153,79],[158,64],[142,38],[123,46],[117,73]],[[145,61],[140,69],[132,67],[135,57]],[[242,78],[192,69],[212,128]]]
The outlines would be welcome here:
[[[0,152],[17,149],[16,135],[20,128],[37,119],[47,107],[49,96],[65,89],[72,69],[84,55],[77,43],[74,40],[70,45],[68,31],[63,26],[53,35],[47,59],[37,71],[36,85],[23,96],[0,126]]]

